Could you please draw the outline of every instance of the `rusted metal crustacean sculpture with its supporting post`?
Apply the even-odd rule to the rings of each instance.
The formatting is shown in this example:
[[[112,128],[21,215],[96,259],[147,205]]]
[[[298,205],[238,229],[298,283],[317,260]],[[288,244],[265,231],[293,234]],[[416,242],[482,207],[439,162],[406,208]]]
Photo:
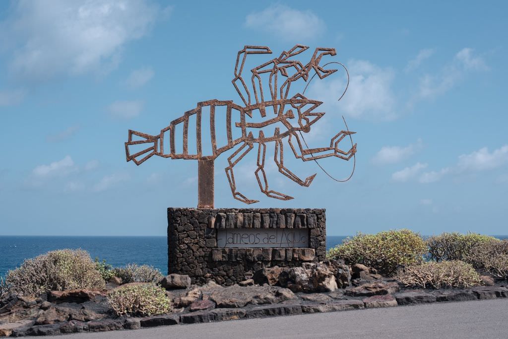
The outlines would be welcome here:
[[[139,165],[153,155],[171,159],[198,160],[198,207],[213,207],[213,161],[221,155],[221,153],[233,150],[232,155],[228,158],[228,166],[225,168],[231,192],[235,199],[246,204],[251,204],[258,202],[258,200],[249,199],[238,191],[235,182],[234,167],[253,149],[253,144],[257,143],[258,161],[255,174],[261,192],[270,198],[280,200],[293,199],[293,197],[289,195],[269,189],[265,172],[267,143],[275,143],[273,160],[279,172],[304,187],[310,185],[316,174],[310,175],[303,180],[285,167],[284,142],[289,144],[294,156],[303,161],[328,157],[350,160],[354,157],[357,150],[356,144],[353,145],[353,142],[352,147],[347,151],[339,148],[339,143],[346,136],[351,139],[351,135],[355,132],[340,131],[331,138],[330,147],[317,148],[308,147],[303,139],[303,135],[301,135],[302,132],[309,132],[311,126],[317,120],[321,119],[325,115],[325,112],[314,112],[314,109],[322,104],[321,101],[308,99],[303,94],[299,93],[289,98],[291,84],[299,79],[307,81],[309,79],[309,72],[312,70],[315,74],[310,77],[310,80],[312,80],[315,75],[320,79],[324,79],[337,71],[335,69],[327,70],[320,66],[323,56],[334,56],[337,54],[334,48],[316,48],[311,59],[305,65],[301,63],[300,60],[293,58],[308,48],[309,47],[303,45],[295,45],[289,51],[283,51],[278,57],[251,69],[250,72],[252,75],[251,81],[249,82],[253,90],[253,95],[251,95],[251,89],[247,86],[248,82],[242,77],[247,55],[270,54],[272,51],[267,46],[244,46],[242,50],[238,51],[234,70],[235,77],[232,80],[233,86],[243,101],[244,106],[239,106],[232,101],[219,101],[216,99],[203,101],[199,102],[196,108],[185,112],[182,116],[171,121],[170,125],[162,129],[159,135],[153,136],[130,130],[128,141],[125,142],[127,161],[132,160]],[[283,81],[279,77],[281,77]],[[263,80],[265,78],[268,78],[270,93],[270,100],[267,101],[265,101],[265,92],[263,91]],[[279,86],[280,83],[282,84]],[[254,98],[255,102],[252,102],[252,98]],[[216,129],[215,120],[217,116],[215,108],[218,106],[226,107],[226,131],[223,130],[223,127],[219,127],[218,130]],[[206,121],[206,123],[208,124],[209,122],[210,126],[211,154],[203,154],[202,142],[207,142],[206,139],[203,139],[202,135],[203,107],[209,107],[210,110],[210,120]],[[273,115],[269,113],[269,116],[267,116],[267,112],[271,112],[272,110]],[[258,112],[257,114],[265,119],[261,122],[249,120],[253,117],[253,112]],[[232,125],[232,116],[236,116],[236,114],[239,115],[240,121]],[[189,118],[192,115],[196,115],[195,152],[188,148],[188,131],[189,128],[194,128],[194,126],[189,125]],[[237,121],[236,118],[235,121]],[[275,124],[279,124],[277,128],[275,128],[275,133],[265,136],[263,129]],[[283,126],[282,131],[279,127],[280,124]],[[178,131],[182,131],[181,139],[179,139],[180,134],[176,134],[177,129],[179,129]],[[241,137],[234,139],[233,129],[240,129]],[[164,144],[165,140],[168,142],[168,138],[165,138],[167,133],[169,134],[169,145]],[[225,134],[227,139],[226,144],[217,144],[217,133]],[[175,134],[178,138],[175,137]],[[140,140],[133,140],[133,136],[140,138]],[[303,139],[305,146],[302,144],[300,138]],[[177,151],[176,144],[180,145],[180,142],[181,151]],[[147,147],[137,152],[131,152],[129,148],[131,146],[139,147],[139,145],[144,144],[146,144]],[[167,149],[169,149],[169,152],[165,152]]]

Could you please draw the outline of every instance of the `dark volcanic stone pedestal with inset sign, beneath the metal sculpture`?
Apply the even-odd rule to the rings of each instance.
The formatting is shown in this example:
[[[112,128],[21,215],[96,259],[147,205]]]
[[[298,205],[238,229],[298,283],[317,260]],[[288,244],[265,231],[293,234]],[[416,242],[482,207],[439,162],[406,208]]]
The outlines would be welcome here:
[[[168,208],[168,273],[232,285],[326,257],[325,209]]]

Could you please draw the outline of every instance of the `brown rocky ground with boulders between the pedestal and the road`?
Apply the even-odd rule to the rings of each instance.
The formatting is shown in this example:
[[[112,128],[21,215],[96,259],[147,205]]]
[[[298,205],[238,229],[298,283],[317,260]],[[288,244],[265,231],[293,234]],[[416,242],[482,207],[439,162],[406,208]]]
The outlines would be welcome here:
[[[506,282],[471,289],[408,289],[383,278],[364,265],[336,261],[302,267],[264,268],[240,285],[212,281],[190,285],[186,275],[171,274],[161,281],[173,302],[173,313],[151,317],[118,317],[106,290],[50,291],[38,298],[8,295],[0,300],[0,336],[54,335],[84,331],[137,329],[242,318],[345,311],[373,307],[508,297]],[[142,283],[132,283],[142,284]],[[125,285],[121,285],[125,286]]]

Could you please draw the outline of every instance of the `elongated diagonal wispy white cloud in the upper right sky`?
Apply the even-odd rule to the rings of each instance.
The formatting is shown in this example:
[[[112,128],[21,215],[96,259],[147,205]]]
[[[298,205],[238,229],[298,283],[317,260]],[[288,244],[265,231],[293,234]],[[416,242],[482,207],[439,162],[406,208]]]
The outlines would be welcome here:
[[[425,74],[420,78],[418,94],[411,98],[409,105],[418,100],[433,99],[446,93],[462,81],[468,72],[487,69],[481,56],[475,56],[472,49],[464,48],[455,54],[452,63],[441,69],[437,75]]]

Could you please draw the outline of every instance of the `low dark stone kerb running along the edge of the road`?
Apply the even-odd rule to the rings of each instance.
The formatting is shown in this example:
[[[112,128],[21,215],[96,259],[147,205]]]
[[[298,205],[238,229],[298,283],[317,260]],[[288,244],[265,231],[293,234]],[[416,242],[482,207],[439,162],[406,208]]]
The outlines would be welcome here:
[[[251,305],[234,309],[214,309],[210,311],[158,315],[145,318],[120,317],[116,319],[104,319],[89,322],[71,320],[69,322],[60,324],[22,326],[13,329],[11,335],[56,335],[87,331],[98,332],[120,329],[139,329],[178,324],[184,325],[249,318],[289,316],[299,315],[303,313],[348,311],[378,307],[391,307],[397,305],[495,298],[508,298],[508,289],[498,286],[481,286],[474,287],[469,290],[406,290],[404,292],[394,293],[393,295],[375,295],[364,299],[334,300],[331,302],[295,302],[291,300],[288,303],[261,306]]]

